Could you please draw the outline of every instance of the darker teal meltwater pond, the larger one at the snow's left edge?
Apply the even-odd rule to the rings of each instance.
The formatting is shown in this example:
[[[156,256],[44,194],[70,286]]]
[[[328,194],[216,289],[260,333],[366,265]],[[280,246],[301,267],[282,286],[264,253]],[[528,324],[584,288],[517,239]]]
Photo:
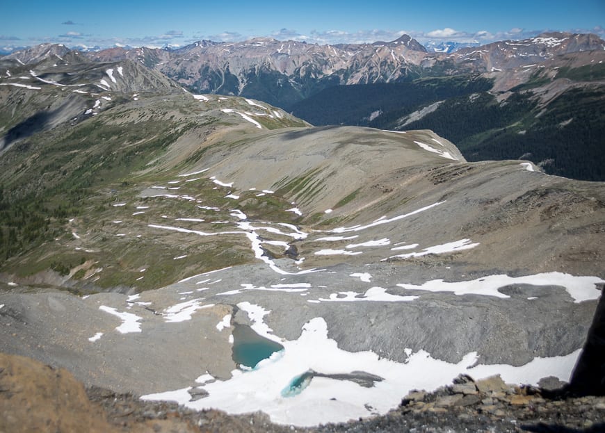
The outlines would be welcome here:
[[[284,350],[284,346],[260,336],[248,325],[235,325],[232,358],[243,369],[255,368],[260,361],[280,350]]]

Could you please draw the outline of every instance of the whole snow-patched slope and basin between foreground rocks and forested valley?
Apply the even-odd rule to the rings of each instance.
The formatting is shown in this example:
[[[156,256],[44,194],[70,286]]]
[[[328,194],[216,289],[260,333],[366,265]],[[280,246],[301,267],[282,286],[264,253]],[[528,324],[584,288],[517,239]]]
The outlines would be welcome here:
[[[123,62],[84,83],[103,77],[111,104],[0,155],[1,352],[301,426],[460,374],[569,377],[605,283],[604,183],[254,99],[135,100]],[[40,90],[1,86],[9,122],[99,97],[30,76],[10,83]],[[240,356],[249,343],[261,356]]]

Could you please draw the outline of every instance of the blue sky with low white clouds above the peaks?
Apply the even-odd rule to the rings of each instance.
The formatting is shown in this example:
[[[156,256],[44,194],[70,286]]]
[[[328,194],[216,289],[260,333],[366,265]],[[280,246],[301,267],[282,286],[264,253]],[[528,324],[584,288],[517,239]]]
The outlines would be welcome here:
[[[481,43],[542,31],[605,37],[605,0],[508,1],[11,1],[0,7],[0,48],[163,47],[255,36],[334,44],[394,40]]]

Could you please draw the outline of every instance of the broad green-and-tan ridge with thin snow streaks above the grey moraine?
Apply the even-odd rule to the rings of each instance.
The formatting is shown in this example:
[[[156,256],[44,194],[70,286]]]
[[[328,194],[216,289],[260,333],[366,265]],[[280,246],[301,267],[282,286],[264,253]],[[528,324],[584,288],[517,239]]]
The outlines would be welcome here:
[[[11,199],[46,218],[3,269],[55,284],[157,288],[280,257],[295,268],[602,272],[601,183],[521,161],[466,163],[431,131],[313,128],[259,101],[183,92],[38,134],[1,163]],[[255,247],[241,220],[305,236],[267,230]],[[141,269],[153,271],[141,279]]]

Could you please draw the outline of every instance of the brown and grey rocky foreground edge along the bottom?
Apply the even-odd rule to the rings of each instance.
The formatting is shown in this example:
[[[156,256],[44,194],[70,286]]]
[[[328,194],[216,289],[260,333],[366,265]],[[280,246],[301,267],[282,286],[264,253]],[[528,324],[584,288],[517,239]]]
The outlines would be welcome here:
[[[569,384],[545,378],[513,386],[468,375],[431,393],[412,391],[383,416],[300,429],[268,416],[192,411],[96,386],[63,368],[0,354],[0,432],[603,432],[605,297]]]

